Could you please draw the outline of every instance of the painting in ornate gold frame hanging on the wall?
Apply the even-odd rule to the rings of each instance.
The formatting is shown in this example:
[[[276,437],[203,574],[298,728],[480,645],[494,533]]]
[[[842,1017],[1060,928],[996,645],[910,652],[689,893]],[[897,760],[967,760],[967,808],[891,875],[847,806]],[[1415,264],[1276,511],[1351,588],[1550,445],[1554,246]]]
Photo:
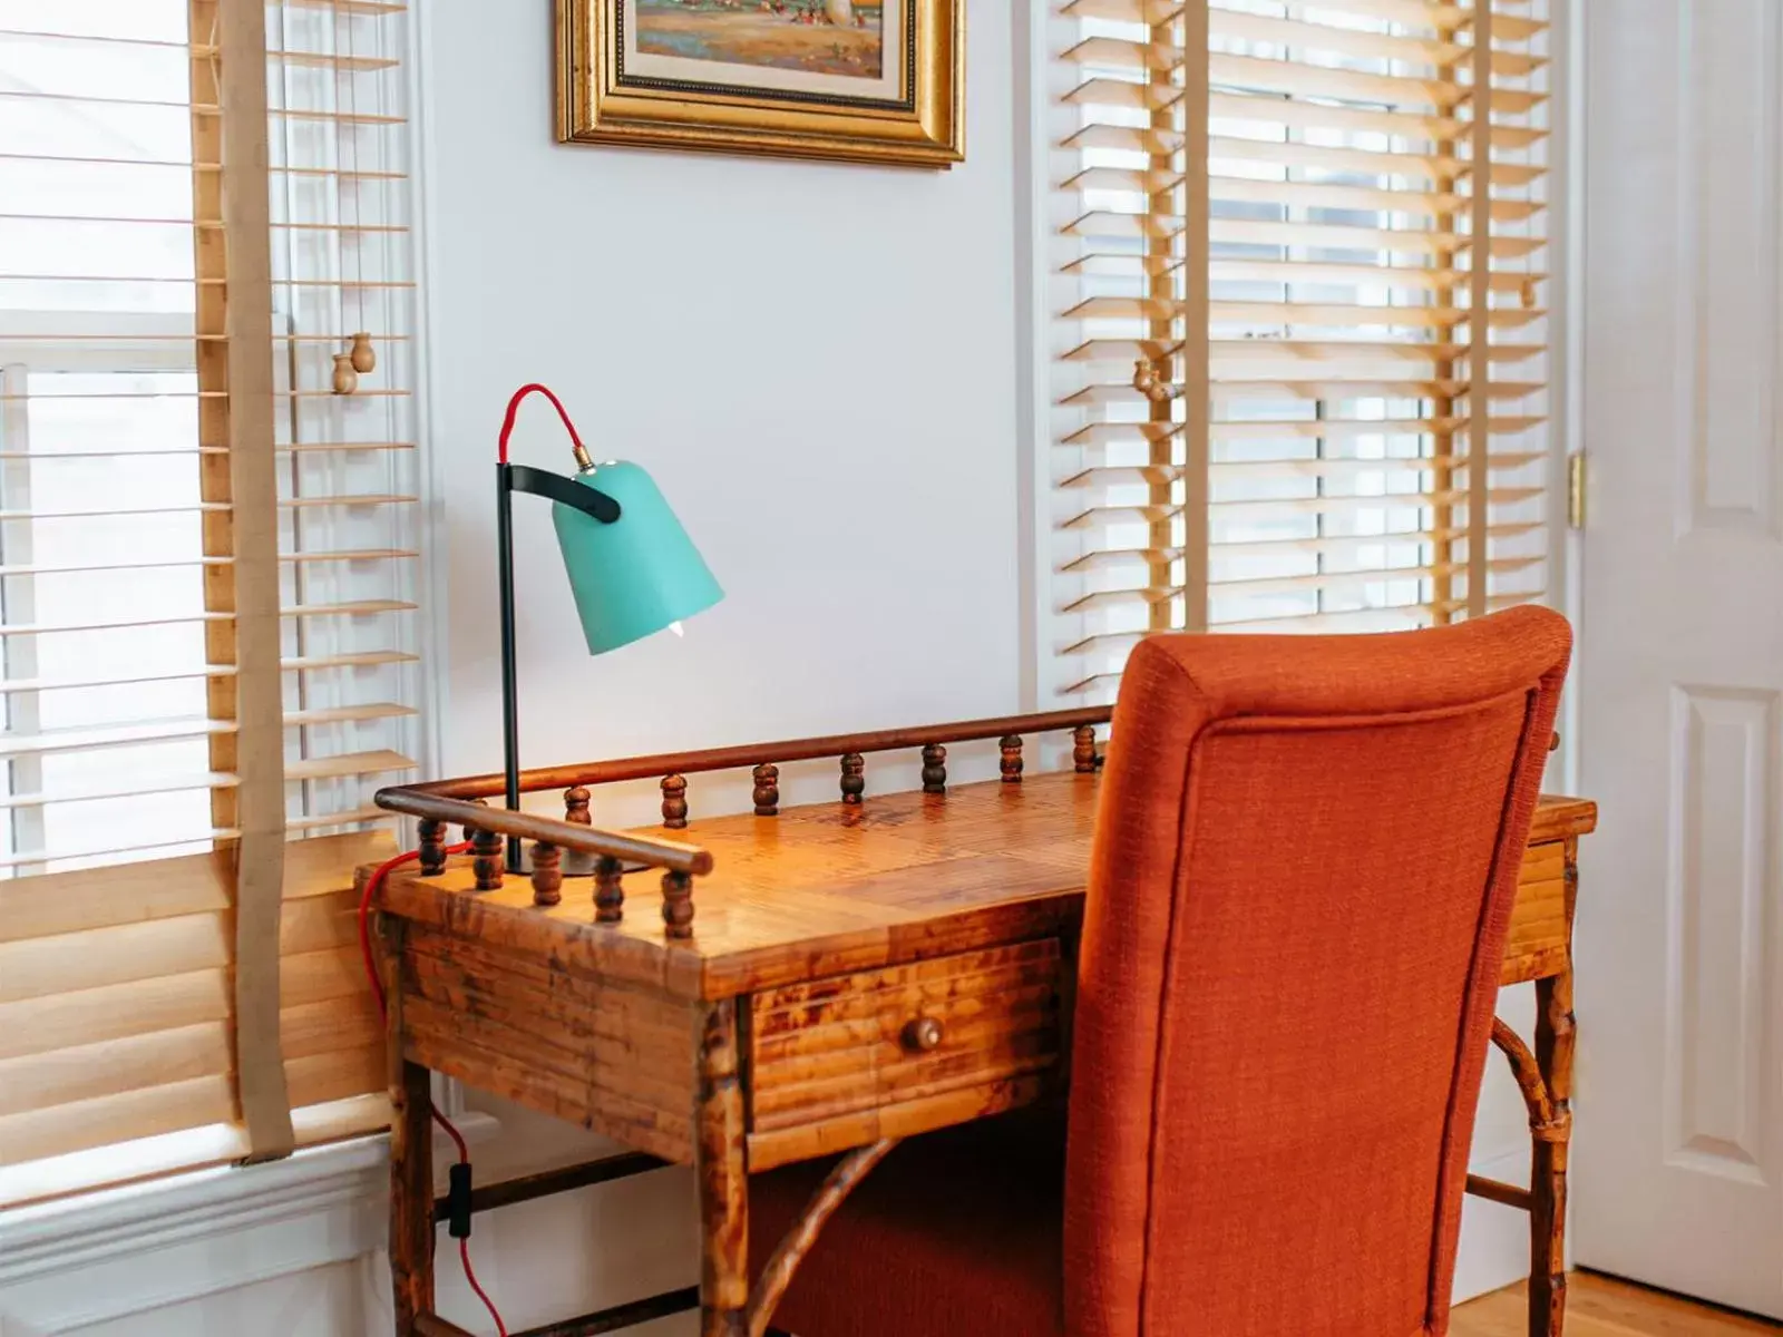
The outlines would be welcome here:
[[[947,168],[966,0],[556,0],[558,139]]]

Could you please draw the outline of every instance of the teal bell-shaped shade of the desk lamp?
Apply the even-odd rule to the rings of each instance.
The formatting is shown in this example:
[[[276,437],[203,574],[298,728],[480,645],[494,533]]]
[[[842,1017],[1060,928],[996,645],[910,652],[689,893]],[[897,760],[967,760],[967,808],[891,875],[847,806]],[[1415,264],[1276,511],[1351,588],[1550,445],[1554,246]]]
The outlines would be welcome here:
[[[656,481],[617,460],[576,481],[619,503],[612,524],[553,503],[563,569],[588,654],[604,654],[711,608],[724,597]]]

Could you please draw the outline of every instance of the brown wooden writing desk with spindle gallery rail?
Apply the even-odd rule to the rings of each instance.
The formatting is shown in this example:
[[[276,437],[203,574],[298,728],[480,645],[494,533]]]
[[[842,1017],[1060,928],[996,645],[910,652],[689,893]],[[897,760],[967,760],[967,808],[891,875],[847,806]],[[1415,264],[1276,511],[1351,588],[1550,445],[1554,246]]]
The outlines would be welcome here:
[[[1073,711],[703,754],[663,781],[667,825],[629,836],[583,827],[576,840],[574,822],[467,809],[485,824],[478,857],[396,874],[380,900],[399,1337],[458,1332],[431,1314],[430,1070],[645,1153],[615,1159],[628,1168],[694,1164],[703,1337],[768,1332],[813,1226],[895,1139],[1063,1093],[1098,788],[1086,720],[1105,717]],[[1084,770],[1022,775],[1013,733],[1047,727],[1077,729]],[[1011,734],[1004,781],[863,800],[865,751],[929,734]],[[843,800],[777,811],[777,774],[760,758],[824,751],[845,752]],[[665,761],[688,758],[533,772],[528,788],[660,774]],[[925,784],[943,788],[945,749],[927,742],[924,761]],[[679,772],[720,765],[756,765],[758,811],[772,815],[688,822]],[[440,822],[465,811],[451,795],[474,797],[490,779],[385,792],[380,802],[428,818],[426,863],[437,866]],[[572,818],[585,820],[587,799],[587,790],[571,788]],[[1501,980],[1533,980],[1539,997],[1533,1052],[1508,1027],[1494,1029],[1530,1107],[1532,1187],[1467,1184],[1532,1216],[1530,1330],[1541,1337],[1558,1337],[1564,1321],[1571,925],[1578,836],[1594,822],[1590,802],[1542,800],[1505,952]],[[492,829],[544,838],[544,872],[501,879]],[[563,849],[644,857],[658,868],[678,859],[711,874],[697,890],[686,872],[663,874],[658,913],[654,897],[638,895],[653,891],[651,882],[638,874],[619,879],[617,863],[604,865],[596,891],[562,884]],[[619,891],[631,895],[622,906]],[[597,920],[596,895],[606,922]],[[749,1171],[834,1152],[850,1155],[752,1292]],[[496,1185],[478,1205],[603,1177],[581,1168],[506,1193]],[[638,1321],[667,1305],[690,1307],[694,1296],[660,1301],[537,1333],[608,1332],[603,1321]]]

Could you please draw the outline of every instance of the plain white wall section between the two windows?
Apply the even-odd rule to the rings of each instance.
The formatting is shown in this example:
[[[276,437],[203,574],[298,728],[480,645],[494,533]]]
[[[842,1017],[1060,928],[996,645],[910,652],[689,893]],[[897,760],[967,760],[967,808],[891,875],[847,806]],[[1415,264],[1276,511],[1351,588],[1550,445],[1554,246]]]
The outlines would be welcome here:
[[[501,761],[490,463],[530,380],[653,471],[729,597],[590,660],[522,497],[528,765],[1015,708],[1009,7],[974,5],[945,173],[560,146],[544,5],[426,27],[446,774]],[[549,405],[522,424],[515,458],[571,467]]]

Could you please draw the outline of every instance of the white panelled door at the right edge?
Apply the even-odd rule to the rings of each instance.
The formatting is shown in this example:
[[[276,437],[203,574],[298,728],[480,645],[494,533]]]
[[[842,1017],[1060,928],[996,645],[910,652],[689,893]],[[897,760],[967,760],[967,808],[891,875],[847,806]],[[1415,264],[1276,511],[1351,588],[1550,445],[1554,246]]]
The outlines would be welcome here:
[[[1574,4],[1574,1260],[1783,1317],[1783,4]]]

